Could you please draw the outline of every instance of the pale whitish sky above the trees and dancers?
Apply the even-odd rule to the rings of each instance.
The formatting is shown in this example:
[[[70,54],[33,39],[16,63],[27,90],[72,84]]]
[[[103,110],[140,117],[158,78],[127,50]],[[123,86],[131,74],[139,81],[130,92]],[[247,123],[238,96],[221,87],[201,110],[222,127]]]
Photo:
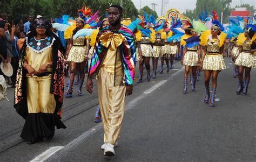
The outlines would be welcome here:
[[[193,10],[196,8],[196,2],[197,0],[163,0],[164,2],[169,2],[164,7],[164,14],[168,9],[178,9],[180,13],[185,12],[186,10]],[[211,1],[211,0],[209,0]],[[139,10],[140,8],[143,8],[144,6],[149,6],[152,9],[152,3],[157,4],[156,5],[156,12],[157,15],[161,15],[161,2],[162,0],[132,0],[136,8]],[[142,2],[140,5],[140,2]],[[242,3],[254,5],[256,8],[256,1],[255,0],[233,0],[231,3],[231,8],[234,8],[235,5],[240,5]]]

